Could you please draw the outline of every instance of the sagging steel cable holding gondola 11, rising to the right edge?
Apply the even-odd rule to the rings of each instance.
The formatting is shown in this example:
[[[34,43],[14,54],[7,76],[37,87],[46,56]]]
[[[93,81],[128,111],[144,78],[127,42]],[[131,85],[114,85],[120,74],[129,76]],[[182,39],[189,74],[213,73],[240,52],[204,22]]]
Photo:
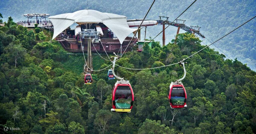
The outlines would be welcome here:
[[[252,17],[250,20],[248,20],[248,21],[244,22],[242,25],[238,26],[238,27],[237,27],[237,28],[235,28],[234,30],[232,30],[232,31],[230,31],[229,33],[227,33],[226,35],[222,36],[221,38],[219,38],[219,39],[218,39],[218,40],[216,40],[215,42],[217,42],[217,41],[221,40],[222,38],[224,38],[224,37],[225,37],[225,36],[227,36],[228,34],[232,33],[233,31],[237,30],[238,28],[240,28],[241,26],[243,26],[243,25],[244,25],[244,24],[246,24],[247,22],[251,21],[251,20],[252,20],[252,19],[254,19],[255,17],[256,17],[256,16]],[[211,43],[210,45],[214,44],[215,42]],[[195,54],[197,54],[197,53],[201,52],[202,50],[204,50],[205,48],[209,47],[210,45],[208,45],[208,46],[206,46],[206,47],[202,48],[201,50],[199,50],[199,51],[198,51],[198,52],[196,52]],[[195,54],[193,54],[193,55],[195,55]],[[180,62],[178,62],[178,63],[174,63],[174,64],[170,64],[170,65],[165,65],[165,66],[161,66],[161,67],[166,67],[166,66],[171,66],[171,65],[175,65],[175,64],[182,63],[184,60],[186,60],[186,59],[188,59],[188,58],[192,57],[193,55],[190,55],[189,57],[187,57],[187,58],[185,58],[185,59],[181,60],[181,61],[180,61]],[[116,65],[116,66],[119,66],[119,65],[117,65],[117,64],[115,64],[115,65]],[[119,66],[119,67],[122,67],[122,66]],[[154,68],[161,68],[161,67],[154,67]],[[131,69],[131,70],[146,70],[146,69],[154,69],[154,68],[135,69],[135,68],[126,68],[126,67],[122,67],[122,68],[125,68],[125,69]]]

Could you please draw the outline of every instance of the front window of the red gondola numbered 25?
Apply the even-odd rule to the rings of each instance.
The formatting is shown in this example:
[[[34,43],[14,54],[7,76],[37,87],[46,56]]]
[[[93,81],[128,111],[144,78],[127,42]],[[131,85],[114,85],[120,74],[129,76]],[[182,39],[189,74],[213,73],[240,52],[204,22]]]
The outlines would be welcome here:
[[[115,91],[116,109],[130,109],[132,102],[132,91],[129,86],[118,86]]]

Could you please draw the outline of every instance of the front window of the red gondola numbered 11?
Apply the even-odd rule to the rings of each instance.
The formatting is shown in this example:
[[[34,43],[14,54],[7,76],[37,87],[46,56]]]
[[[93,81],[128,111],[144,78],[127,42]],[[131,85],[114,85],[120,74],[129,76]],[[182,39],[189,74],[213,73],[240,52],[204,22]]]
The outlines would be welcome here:
[[[183,87],[173,87],[171,92],[172,105],[184,105],[185,92]]]

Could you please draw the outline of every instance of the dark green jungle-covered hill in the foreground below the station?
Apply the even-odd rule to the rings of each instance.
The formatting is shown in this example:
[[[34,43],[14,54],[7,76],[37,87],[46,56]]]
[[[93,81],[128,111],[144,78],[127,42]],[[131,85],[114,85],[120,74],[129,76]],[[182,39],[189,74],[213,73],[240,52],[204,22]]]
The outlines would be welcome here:
[[[187,107],[180,109],[170,108],[167,90],[183,76],[182,66],[116,67],[135,96],[131,113],[117,113],[110,111],[116,80],[108,79],[108,70],[93,72],[93,83],[85,86],[83,55],[68,55],[57,41],[49,41],[47,31],[36,32],[17,26],[11,17],[0,27],[1,133],[256,133],[256,73],[237,59],[212,48],[188,58],[182,81]],[[203,47],[195,35],[182,33],[176,44],[161,47],[154,41],[152,49],[146,46],[116,64],[160,67]],[[111,64],[97,54],[93,61],[94,69]]]

